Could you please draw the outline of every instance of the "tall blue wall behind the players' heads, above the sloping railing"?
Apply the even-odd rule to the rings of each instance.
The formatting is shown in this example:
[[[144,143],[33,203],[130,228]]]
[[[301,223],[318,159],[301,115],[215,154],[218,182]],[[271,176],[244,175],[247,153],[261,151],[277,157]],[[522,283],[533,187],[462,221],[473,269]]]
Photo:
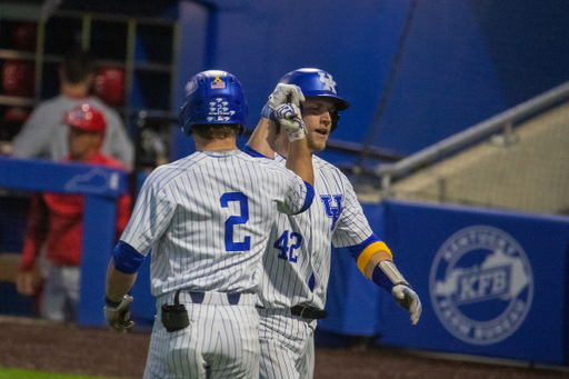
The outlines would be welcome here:
[[[403,154],[569,80],[569,2],[558,0],[210,0],[180,3],[173,110],[194,73],[222,69],[243,84],[249,127],[277,81],[301,67],[329,71],[351,102],[335,139]],[[393,87],[386,84],[401,46]],[[174,158],[192,151],[174,139]],[[244,140],[241,141],[241,144]],[[355,157],[325,152],[333,163]]]

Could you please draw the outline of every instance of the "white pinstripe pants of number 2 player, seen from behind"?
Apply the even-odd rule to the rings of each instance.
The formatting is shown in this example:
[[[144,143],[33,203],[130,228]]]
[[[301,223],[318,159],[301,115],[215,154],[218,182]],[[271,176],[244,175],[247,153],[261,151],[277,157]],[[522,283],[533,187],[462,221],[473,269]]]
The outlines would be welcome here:
[[[167,332],[161,322],[161,306],[152,329],[144,379],[211,379],[259,377],[259,313],[253,295],[241,295],[239,305],[227,303],[224,293],[206,293],[200,305],[180,293],[190,326]],[[173,303],[168,296],[168,303]],[[227,305],[226,305],[227,303]]]

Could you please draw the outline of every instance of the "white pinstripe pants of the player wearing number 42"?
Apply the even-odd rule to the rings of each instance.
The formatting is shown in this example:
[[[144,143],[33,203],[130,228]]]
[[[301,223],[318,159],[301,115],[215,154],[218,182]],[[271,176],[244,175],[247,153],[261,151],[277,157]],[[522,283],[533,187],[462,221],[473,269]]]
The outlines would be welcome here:
[[[315,375],[315,329],[290,309],[259,309],[261,379],[311,379]]]

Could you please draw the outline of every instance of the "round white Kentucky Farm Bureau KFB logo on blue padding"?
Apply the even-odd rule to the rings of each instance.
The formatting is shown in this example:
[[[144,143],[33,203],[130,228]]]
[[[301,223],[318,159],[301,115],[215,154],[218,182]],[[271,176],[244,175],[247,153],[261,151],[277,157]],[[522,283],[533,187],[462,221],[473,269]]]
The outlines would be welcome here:
[[[521,246],[487,226],[462,229],[439,249],[429,290],[445,328],[473,345],[511,336],[531,307],[533,279]]]

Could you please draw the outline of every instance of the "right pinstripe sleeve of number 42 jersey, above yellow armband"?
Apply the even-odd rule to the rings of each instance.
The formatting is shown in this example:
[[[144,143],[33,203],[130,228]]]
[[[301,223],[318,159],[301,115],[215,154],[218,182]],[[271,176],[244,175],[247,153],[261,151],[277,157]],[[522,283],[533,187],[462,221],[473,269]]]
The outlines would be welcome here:
[[[359,245],[373,235],[368,219],[363,215],[361,205],[356,197],[353,187],[348,178],[345,177],[342,179],[343,188],[346,189],[345,201],[340,218],[338,219],[338,226],[332,236],[332,243],[337,248]]]

